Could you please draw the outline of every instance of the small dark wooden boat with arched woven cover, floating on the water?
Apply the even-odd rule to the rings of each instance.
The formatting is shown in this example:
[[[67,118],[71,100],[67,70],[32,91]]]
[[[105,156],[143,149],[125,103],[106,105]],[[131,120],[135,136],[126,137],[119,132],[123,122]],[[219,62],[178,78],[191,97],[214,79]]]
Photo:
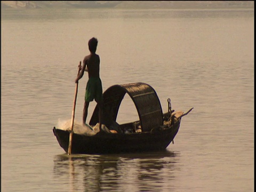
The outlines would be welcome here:
[[[139,121],[119,125],[116,122],[119,106],[125,94],[129,94],[137,108]],[[103,93],[103,124],[117,133],[100,131],[93,136],[73,133],[72,154],[110,154],[164,150],[179,131],[182,111],[174,112],[168,99],[167,113],[162,112],[156,91],[146,83],[131,83],[110,86]],[[98,105],[90,125],[99,122]],[[69,131],[53,127],[59,145],[68,151]]]

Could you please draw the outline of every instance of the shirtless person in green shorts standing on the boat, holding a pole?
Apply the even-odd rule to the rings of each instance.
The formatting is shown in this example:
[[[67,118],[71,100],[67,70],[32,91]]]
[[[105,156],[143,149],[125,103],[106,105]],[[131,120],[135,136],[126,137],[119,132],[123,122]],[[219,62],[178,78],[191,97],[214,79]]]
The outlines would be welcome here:
[[[93,99],[98,103],[99,106],[99,124],[101,131],[102,124],[102,107],[103,107],[103,99],[102,99],[102,84],[100,79],[100,57],[96,54],[96,49],[98,45],[97,38],[91,38],[88,42],[90,54],[86,55],[83,60],[83,66],[80,70],[80,73],[77,75],[75,83],[78,82],[84,75],[84,71],[88,72],[88,81],[86,84],[85,91],[85,102],[84,102],[84,110],[83,110],[83,124],[86,123],[86,118],[88,114],[88,107]]]

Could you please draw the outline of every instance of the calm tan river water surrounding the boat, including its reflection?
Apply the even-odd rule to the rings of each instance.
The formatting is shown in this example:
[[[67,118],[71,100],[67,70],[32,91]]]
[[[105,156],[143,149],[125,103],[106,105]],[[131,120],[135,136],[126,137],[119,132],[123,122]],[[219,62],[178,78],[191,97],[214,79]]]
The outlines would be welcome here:
[[[50,10],[1,15],[1,191],[254,191],[254,10]],[[194,110],[165,152],[67,156],[77,65],[99,39],[103,91],[145,82]],[[82,121],[87,76],[78,87]],[[95,102],[89,107],[90,120]],[[135,121],[129,97],[118,123]]]

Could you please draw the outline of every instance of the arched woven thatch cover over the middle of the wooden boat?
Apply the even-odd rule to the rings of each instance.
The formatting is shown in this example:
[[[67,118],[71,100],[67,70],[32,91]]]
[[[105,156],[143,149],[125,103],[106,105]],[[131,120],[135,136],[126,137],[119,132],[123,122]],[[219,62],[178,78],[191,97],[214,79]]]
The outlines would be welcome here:
[[[163,125],[163,111],[156,91],[146,83],[130,83],[110,86],[103,93],[103,124],[115,122],[125,93],[129,94],[138,111],[142,132]],[[99,122],[98,105],[95,107],[90,125]]]

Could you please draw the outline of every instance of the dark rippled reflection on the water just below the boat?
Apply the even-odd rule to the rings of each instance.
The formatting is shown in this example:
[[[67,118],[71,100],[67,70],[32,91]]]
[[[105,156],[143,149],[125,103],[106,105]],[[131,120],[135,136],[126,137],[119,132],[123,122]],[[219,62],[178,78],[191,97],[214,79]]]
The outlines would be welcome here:
[[[161,191],[171,189],[179,154],[168,150],[117,155],[57,155],[54,177],[71,191]]]

